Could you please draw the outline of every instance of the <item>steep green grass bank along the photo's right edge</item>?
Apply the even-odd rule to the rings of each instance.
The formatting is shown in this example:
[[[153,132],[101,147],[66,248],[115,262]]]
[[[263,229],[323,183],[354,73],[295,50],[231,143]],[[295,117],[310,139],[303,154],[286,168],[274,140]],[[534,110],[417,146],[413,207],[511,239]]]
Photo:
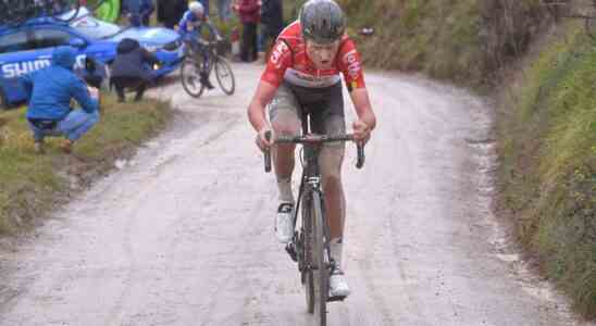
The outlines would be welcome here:
[[[596,43],[545,47],[501,120],[504,200],[543,272],[596,317]]]

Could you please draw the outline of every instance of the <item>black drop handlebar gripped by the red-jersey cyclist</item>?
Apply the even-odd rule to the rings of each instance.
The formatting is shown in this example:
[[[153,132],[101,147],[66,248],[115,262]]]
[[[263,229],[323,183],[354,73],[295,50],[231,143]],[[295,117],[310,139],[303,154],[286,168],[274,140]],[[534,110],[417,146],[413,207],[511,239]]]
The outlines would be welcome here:
[[[265,139],[270,141],[272,139],[271,131],[265,133]],[[276,136],[273,140],[274,143],[324,143],[324,142],[337,142],[337,141],[355,141],[352,134],[347,135],[306,135],[306,136]],[[364,146],[357,143],[358,161],[356,162],[357,168],[364,166],[365,155]],[[264,151],[265,172],[271,172],[271,149]]]

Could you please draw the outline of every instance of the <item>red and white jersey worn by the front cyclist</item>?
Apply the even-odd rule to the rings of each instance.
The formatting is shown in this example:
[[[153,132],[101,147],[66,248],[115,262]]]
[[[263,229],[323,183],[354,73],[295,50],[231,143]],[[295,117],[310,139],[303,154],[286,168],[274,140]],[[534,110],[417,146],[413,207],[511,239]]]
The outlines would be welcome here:
[[[364,74],[356,45],[344,35],[333,67],[318,70],[307,55],[300,22],[294,22],[277,37],[261,80],[278,87],[284,80],[307,88],[330,87],[342,80],[348,89],[364,88]]]

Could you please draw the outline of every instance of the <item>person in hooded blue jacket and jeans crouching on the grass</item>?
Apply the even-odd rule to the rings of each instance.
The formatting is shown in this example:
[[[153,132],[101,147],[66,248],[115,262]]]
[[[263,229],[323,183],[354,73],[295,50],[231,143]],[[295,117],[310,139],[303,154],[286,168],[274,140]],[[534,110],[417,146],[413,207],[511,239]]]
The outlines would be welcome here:
[[[87,87],[75,75],[75,48],[58,47],[49,67],[23,78],[28,104],[26,117],[38,153],[44,153],[47,136],[64,136],[61,148],[71,152],[73,143],[99,121],[99,90]],[[75,99],[82,110],[73,110],[71,99]]]

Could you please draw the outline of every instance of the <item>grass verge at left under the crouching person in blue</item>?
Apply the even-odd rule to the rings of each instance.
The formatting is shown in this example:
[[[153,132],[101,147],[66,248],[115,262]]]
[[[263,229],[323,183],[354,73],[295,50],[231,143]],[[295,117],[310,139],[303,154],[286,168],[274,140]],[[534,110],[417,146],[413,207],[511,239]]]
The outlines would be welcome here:
[[[0,113],[0,234],[11,234],[42,216],[69,190],[69,176],[88,181],[113,166],[163,127],[169,105],[163,102],[115,103],[103,97],[101,121],[75,143],[72,155],[49,138],[47,153],[34,152],[25,108]]]

